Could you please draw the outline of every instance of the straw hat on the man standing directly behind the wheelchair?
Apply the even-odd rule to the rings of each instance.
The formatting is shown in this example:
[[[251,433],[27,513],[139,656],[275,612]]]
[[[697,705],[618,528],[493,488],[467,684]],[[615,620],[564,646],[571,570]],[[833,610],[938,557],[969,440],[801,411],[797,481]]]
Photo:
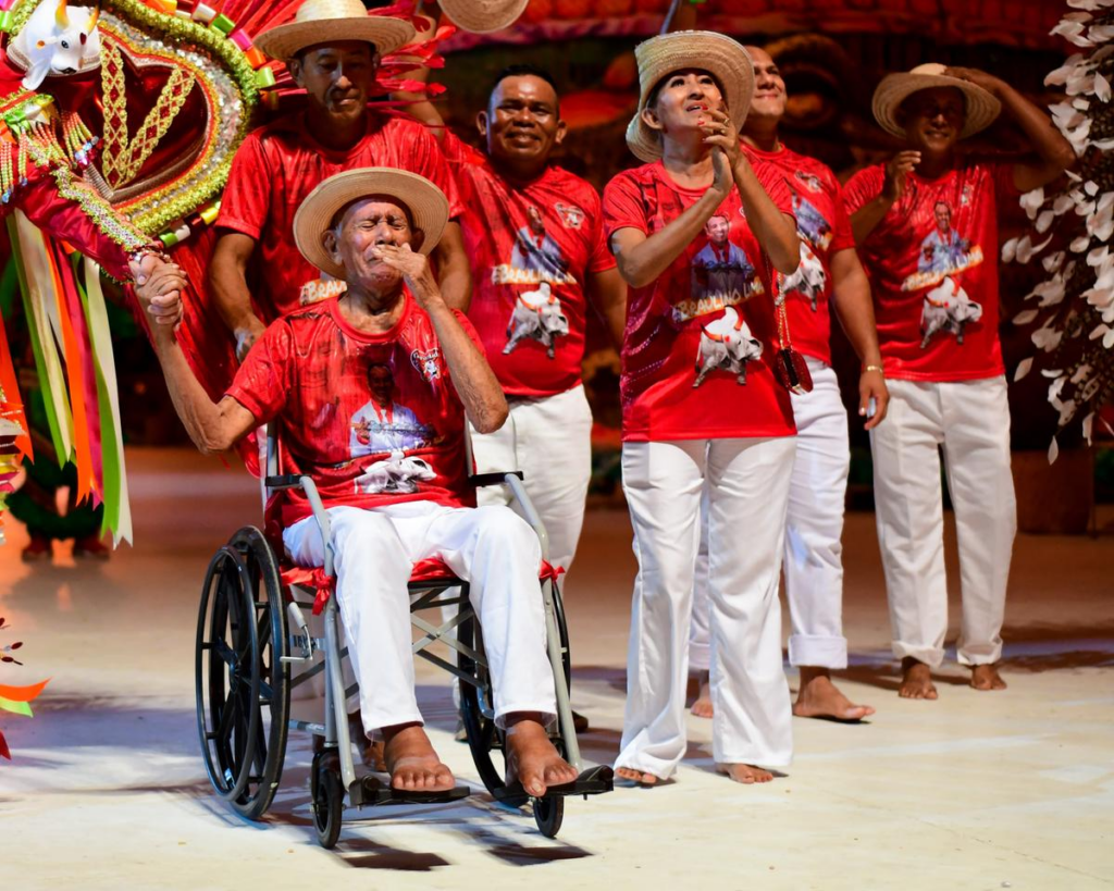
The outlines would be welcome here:
[[[393,52],[414,38],[413,26],[390,16],[369,16],[360,0],[305,0],[294,21],[255,36],[255,46],[272,59],[285,61],[315,43],[365,40],[380,56]]]

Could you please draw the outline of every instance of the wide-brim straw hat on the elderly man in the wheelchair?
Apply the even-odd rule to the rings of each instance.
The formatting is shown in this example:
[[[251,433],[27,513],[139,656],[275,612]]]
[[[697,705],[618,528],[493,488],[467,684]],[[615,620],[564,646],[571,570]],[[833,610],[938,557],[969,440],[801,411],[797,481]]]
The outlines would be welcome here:
[[[321,236],[332,226],[342,207],[369,195],[387,195],[409,208],[416,229],[426,234],[418,248],[429,254],[441,241],[449,222],[449,199],[424,176],[394,167],[360,167],[329,177],[306,195],[294,214],[294,242],[302,256],[334,278],[344,277],[344,267],[334,263]]]

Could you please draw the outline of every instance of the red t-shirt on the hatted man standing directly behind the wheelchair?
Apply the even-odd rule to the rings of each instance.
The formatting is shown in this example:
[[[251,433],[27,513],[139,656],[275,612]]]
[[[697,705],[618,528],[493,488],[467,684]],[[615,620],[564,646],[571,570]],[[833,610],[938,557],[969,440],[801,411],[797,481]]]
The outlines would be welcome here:
[[[343,282],[323,276],[299,252],[294,214],[317,185],[356,167],[398,167],[420,174],[446,194],[449,216],[460,215],[457,186],[444,156],[429,130],[412,119],[369,111],[368,135],[346,151],[316,143],[302,115],[254,130],[233,158],[216,225],[258,243],[255,294],[264,322],[345,290]]]

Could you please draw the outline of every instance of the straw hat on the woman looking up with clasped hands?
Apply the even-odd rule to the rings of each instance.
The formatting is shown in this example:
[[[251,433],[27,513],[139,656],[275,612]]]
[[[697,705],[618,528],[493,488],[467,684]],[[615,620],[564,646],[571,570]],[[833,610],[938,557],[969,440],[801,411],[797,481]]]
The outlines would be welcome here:
[[[638,110],[627,125],[627,145],[644,161],[662,157],[662,138],[642,119],[651,91],[674,71],[698,68],[716,79],[727,114],[742,127],[754,96],[754,62],[742,43],[714,31],[674,31],[635,47],[638,62]]]

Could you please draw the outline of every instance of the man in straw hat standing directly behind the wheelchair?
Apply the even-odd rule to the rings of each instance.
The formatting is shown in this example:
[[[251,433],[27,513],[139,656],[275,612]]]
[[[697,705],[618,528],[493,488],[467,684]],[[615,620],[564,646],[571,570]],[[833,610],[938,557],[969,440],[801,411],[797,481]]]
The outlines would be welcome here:
[[[368,109],[379,59],[413,35],[409,22],[369,16],[359,0],[306,0],[294,22],[256,38],[287,62],[309,101],[303,112],[248,134],[221,199],[209,284],[240,359],[267,323],[343,288],[310,266],[291,236],[295,212],[319,183],[355,167],[399,167],[436,183],[459,216],[456,185],[429,131]],[[446,300],[463,309],[471,285],[456,223],[434,257]]]

